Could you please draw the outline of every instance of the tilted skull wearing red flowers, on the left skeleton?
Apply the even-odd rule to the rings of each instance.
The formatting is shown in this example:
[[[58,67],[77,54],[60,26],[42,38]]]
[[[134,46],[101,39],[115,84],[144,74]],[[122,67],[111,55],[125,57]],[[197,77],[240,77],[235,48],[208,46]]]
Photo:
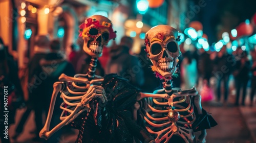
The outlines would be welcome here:
[[[116,37],[111,20],[101,15],[89,17],[79,28],[84,52],[96,58],[101,57],[103,46]]]

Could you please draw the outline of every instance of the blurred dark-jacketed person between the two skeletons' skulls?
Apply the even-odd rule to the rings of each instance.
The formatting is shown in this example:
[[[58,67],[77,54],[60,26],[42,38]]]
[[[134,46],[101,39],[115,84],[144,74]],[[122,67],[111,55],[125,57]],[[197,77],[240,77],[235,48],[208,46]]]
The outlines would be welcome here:
[[[129,54],[133,46],[133,39],[128,36],[121,38],[120,44],[111,47],[110,60],[106,64],[105,73],[116,73],[129,80],[129,83],[140,87],[144,83],[143,70],[139,59]]]

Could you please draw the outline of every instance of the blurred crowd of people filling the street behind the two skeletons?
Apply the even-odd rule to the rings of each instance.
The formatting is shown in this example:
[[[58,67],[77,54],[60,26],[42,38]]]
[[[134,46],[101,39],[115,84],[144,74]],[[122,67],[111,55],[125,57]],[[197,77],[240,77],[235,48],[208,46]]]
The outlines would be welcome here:
[[[36,130],[33,134],[34,140],[39,141],[39,131],[44,125],[50,106],[53,83],[58,81],[62,73],[71,77],[78,73],[86,74],[91,57],[83,51],[83,42],[71,44],[71,52],[66,55],[58,39],[50,40],[45,35],[39,35],[35,40],[34,56],[26,67],[18,69],[17,61],[8,54],[8,48],[3,41],[0,42],[1,88],[3,85],[10,88],[9,124],[14,123],[16,109],[26,108],[20,120],[16,121],[17,127],[12,138],[16,139],[22,133],[28,116],[34,111]],[[145,47],[141,47],[139,54],[132,52],[133,42],[133,38],[124,36],[119,44],[114,42],[111,47],[103,47],[103,55],[97,61],[96,75],[104,77],[106,74],[116,73],[143,92],[153,92],[162,87],[163,81],[154,76],[150,68],[152,63],[144,51]],[[185,51],[182,44],[180,50],[182,56],[179,57],[177,70],[179,76],[173,78],[175,87],[188,89],[195,86],[202,96],[202,102],[217,101],[219,105],[227,104],[230,91],[235,90],[236,101],[232,103],[235,106],[245,105],[247,87],[250,87],[250,106],[255,104],[255,51],[247,52],[238,47],[235,52],[228,54],[225,45],[220,52],[206,52],[197,48]],[[60,122],[61,103],[61,99],[57,98],[51,127]],[[61,132],[59,130],[53,135],[55,137],[47,141],[58,142],[56,139]]]

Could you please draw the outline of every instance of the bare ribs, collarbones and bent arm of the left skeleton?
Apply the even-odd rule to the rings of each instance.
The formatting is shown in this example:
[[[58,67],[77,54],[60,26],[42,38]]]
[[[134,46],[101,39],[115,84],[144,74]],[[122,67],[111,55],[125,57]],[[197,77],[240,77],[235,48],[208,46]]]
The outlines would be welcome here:
[[[79,114],[86,110],[88,111],[90,108],[88,103],[92,99],[100,98],[102,103],[108,101],[104,89],[99,86],[104,80],[103,77],[95,76],[97,79],[91,81],[86,77],[88,75],[78,74],[74,77],[68,77],[65,74],[61,74],[59,77],[60,82],[54,83],[46,124],[39,133],[41,138],[48,139],[54,132],[72,122]],[[85,84],[86,86],[79,86],[79,84]],[[58,92],[61,92],[61,98],[63,99],[63,103],[60,105],[60,109],[63,110],[60,116],[62,122],[50,130],[49,127]],[[69,96],[70,94],[72,96]]]

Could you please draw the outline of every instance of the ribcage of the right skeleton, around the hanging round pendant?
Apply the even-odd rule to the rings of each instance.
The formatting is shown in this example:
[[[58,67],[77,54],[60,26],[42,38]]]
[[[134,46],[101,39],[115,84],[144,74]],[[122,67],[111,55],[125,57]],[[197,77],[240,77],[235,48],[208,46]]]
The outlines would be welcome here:
[[[157,93],[163,93],[158,90]],[[194,105],[191,96],[196,96],[195,88],[174,92],[166,99],[147,98],[147,108],[142,109],[145,127],[148,132],[155,136],[156,142],[169,142],[172,138],[182,138],[184,142],[192,142],[194,133],[191,125],[195,122]],[[177,122],[171,122],[167,116],[170,110],[179,112],[180,118]]]

